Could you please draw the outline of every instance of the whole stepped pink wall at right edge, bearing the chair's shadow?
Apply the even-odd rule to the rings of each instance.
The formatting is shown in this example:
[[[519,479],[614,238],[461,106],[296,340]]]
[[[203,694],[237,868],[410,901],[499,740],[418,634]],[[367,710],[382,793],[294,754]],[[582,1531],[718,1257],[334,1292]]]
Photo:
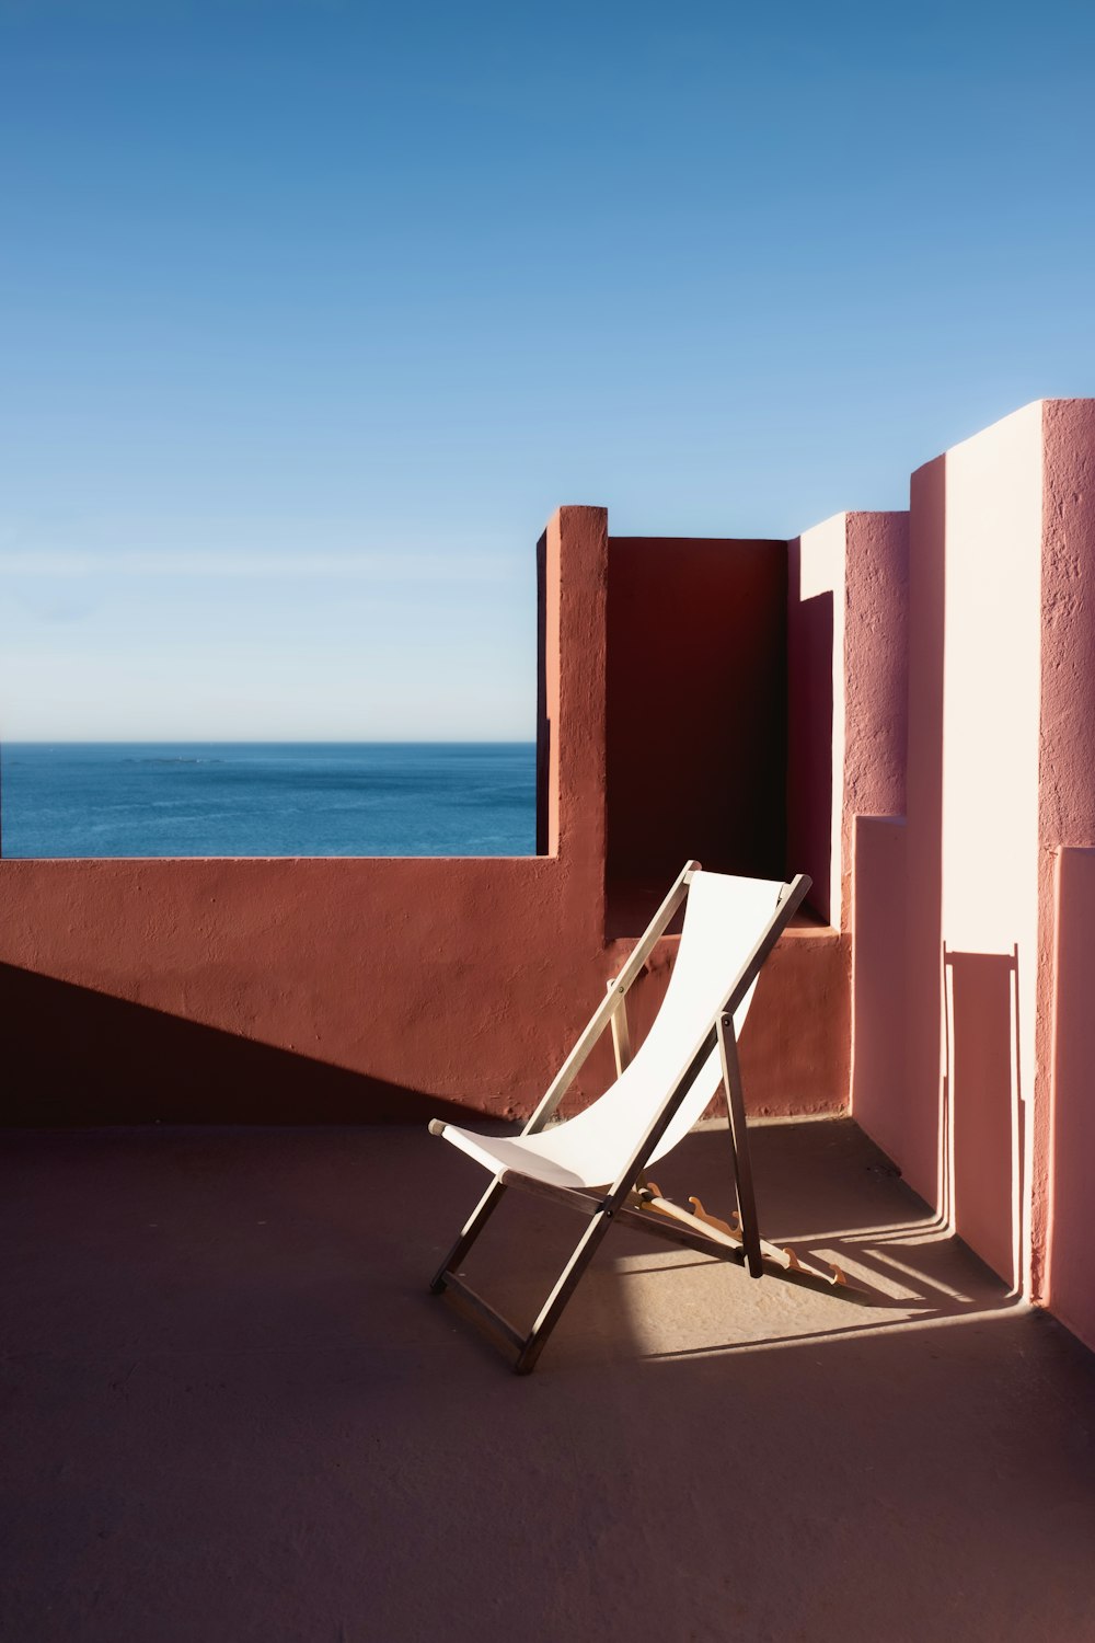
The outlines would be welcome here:
[[[913,475],[908,825],[857,825],[852,1065],[911,1185],[1090,1344],[1093,480],[1092,401]]]

